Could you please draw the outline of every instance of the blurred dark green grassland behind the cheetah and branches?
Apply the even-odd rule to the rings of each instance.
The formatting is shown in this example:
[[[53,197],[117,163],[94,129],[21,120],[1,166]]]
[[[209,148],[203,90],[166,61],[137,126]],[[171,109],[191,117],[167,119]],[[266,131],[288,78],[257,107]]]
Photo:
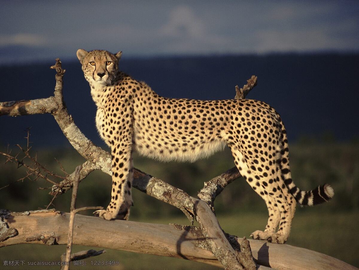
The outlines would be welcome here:
[[[35,146],[34,146],[35,147]],[[334,199],[324,205],[313,208],[297,207],[293,220],[289,245],[309,248],[336,257],[349,264],[359,266],[359,237],[355,231],[359,219],[359,143],[320,143],[299,141],[290,145],[290,166],[294,182],[303,190],[309,190],[322,183],[329,183],[335,190]],[[17,149],[14,147],[13,153]],[[34,154],[34,152],[33,152]],[[54,159],[58,159],[69,173],[84,162],[73,149],[38,149],[38,161],[46,164],[50,171],[61,173]],[[0,188],[18,180],[25,175],[24,167],[4,164],[6,159],[0,157]],[[26,161],[26,160],[24,160]],[[229,151],[215,154],[196,163],[159,163],[153,160],[135,157],[135,167],[181,188],[192,196],[208,181],[234,166]],[[0,209],[12,211],[36,210],[45,208],[52,197],[44,180],[23,181],[0,189]],[[77,207],[104,206],[110,199],[111,177],[102,172],[93,172],[80,183]],[[134,207],[131,208],[133,221],[151,223],[188,224],[183,213],[133,190]],[[239,237],[249,237],[257,229],[264,229],[267,212],[264,201],[251,190],[242,179],[231,183],[215,201],[216,213],[222,228]],[[51,208],[69,211],[70,192],[56,198]],[[88,213],[83,213],[91,215]],[[349,243],[348,243],[349,242]],[[348,246],[350,248],[348,248]],[[65,246],[17,245],[0,249],[0,269],[3,260],[51,261],[58,260]],[[76,246],[74,251],[84,250]],[[98,250],[98,248],[97,248]],[[118,260],[120,266],[106,269],[214,269],[210,266],[186,260],[142,255],[123,251],[107,250],[107,253],[93,258],[101,260]],[[87,259],[90,264],[91,259]],[[33,268],[42,269],[39,266]],[[89,267],[89,265],[87,265]],[[43,268],[43,269],[58,269]],[[16,269],[11,267],[9,269]],[[19,268],[25,269],[25,268]],[[26,269],[31,269],[29,266]],[[76,268],[74,268],[76,269]],[[78,269],[85,269],[81,266]],[[95,269],[95,267],[93,268]]]

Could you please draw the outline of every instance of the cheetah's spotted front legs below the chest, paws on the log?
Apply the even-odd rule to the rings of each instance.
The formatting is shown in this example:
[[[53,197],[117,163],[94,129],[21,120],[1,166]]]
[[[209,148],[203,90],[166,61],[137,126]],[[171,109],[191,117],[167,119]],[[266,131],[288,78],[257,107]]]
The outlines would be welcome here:
[[[132,206],[132,157],[131,142],[121,141],[112,146],[112,191],[111,202],[106,210],[94,214],[103,219],[125,219],[130,215]]]

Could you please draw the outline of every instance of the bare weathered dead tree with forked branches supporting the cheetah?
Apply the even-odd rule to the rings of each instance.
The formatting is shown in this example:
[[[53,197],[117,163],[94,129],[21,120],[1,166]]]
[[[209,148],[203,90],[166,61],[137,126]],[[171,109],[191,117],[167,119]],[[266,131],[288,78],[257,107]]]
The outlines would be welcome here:
[[[55,118],[71,145],[86,159],[81,165],[82,169],[77,168],[74,173],[53,185],[50,194],[60,195],[76,186],[76,182],[83,180],[95,169],[111,175],[111,155],[86,138],[67,112],[62,97],[62,77],[65,70],[61,68],[60,59],[56,59],[56,64],[51,68],[56,69],[54,96],[28,101],[0,102],[0,116],[50,113]],[[236,86],[236,98],[243,99],[256,84],[257,77],[252,76],[243,88],[239,89]],[[215,217],[214,200],[230,182],[240,176],[236,167],[229,169],[205,182],[198,194],[199,199],[196,199],[183,190],[134,168],[132,183],[134,188],[181,209],[192,225],[196,220],[199,227],[124,220],[107,221],[79,214],[74,219],[75,213],[81,209],[75,209],[74,202],[71,202],[70,214],[55,210],[24,213],[0,211],[0,247],[21,243],[70,246],[75,244],[177,257],[225,269],[268,269],[268,267],[350,269],[352,267],[318,252],[261,240],[248,241],[246,238],[237,238],[223,232]],[[74,233],[71,228],[75,228]],[[69,262],[76,258],[96,256],[101,253],[102,251],[92,250],[70,256],[70,250],[62,260]]]

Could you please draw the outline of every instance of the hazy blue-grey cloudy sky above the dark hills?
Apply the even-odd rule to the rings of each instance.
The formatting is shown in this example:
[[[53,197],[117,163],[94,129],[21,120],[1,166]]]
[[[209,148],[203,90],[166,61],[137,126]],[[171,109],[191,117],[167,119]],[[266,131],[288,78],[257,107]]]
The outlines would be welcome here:
[[[1,1],[0,62],[359,51],[359,1]]]

